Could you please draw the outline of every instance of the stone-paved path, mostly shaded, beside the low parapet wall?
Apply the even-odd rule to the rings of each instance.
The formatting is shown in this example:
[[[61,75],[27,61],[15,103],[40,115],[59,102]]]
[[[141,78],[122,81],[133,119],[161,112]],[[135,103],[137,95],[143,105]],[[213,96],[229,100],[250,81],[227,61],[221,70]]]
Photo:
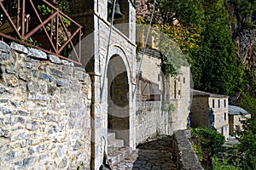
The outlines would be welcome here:
[[[131,157],[119,162],[114,170],[175,170],[172,156],[172,138],[167,136],[151,139],[140,144]]]

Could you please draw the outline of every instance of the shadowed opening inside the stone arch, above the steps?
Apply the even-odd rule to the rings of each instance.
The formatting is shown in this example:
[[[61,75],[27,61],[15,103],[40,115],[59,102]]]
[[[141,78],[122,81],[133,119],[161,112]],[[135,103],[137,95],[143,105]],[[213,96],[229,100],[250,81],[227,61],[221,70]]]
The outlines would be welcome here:
[[[108,133],[129,145],[129,81],[123,59],[113,55],[108,62]]]

